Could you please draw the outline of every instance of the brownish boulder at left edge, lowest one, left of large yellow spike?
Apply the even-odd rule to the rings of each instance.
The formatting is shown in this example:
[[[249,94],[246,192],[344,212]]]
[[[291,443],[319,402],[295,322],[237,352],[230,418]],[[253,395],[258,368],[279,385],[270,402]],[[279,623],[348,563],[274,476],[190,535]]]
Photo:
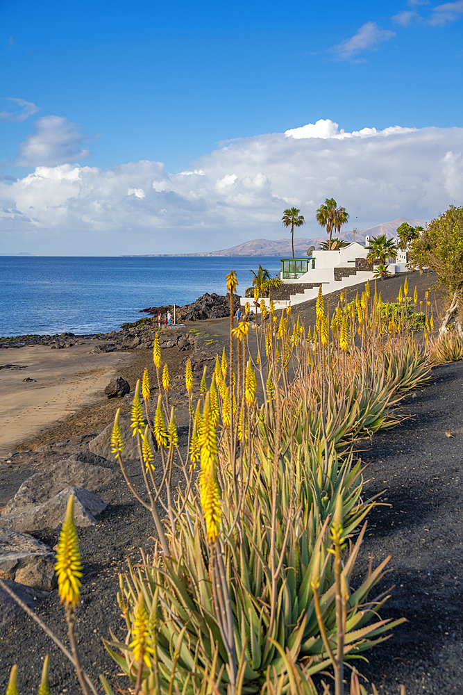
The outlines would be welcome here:
[[[26,533],[0,528],[0,575],[40,591],[56,586],[55,556]]]

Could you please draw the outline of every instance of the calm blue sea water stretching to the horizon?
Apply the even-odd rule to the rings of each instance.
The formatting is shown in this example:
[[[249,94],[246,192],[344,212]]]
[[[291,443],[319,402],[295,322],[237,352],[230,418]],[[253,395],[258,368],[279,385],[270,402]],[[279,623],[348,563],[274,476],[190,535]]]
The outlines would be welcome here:
[[[145,316],[146,306],[194,302],[226,294],[236,270],[244,291],[258,264],[271,276],[275,256],[228,258],[94,258],[0,256],[0,336],[104,333]]]

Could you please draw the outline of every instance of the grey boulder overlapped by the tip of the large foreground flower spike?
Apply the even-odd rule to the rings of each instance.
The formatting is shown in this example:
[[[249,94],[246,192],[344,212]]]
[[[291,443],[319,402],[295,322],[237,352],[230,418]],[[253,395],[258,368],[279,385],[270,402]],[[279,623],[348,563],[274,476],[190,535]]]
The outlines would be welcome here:
[[[66,516],[67,500],[74,495],[74,521],[76,526],[93,526],[95,516],[106,509],[106,504],[92,492],[81,487],[69,486],[42,504],[29,504],[12,508],[2,514],[1,525],[13,531],[41,531],[44,528],[59,528]]]

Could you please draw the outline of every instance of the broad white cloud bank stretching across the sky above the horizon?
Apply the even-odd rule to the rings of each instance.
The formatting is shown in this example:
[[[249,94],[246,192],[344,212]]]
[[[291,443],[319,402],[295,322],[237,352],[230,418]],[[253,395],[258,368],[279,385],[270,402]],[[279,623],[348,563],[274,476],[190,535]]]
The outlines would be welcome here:
[[[462,153],[463,128],[346,132],[327,119],[228,142],[180,174],[151,161],[42,165],[0,181],[0,234],[52,254],[212,251],[281,238],[289,205],[305,216],[304,236],[319,236],[314,213],[326,197],[362,229],[426,220],[462,204]]]

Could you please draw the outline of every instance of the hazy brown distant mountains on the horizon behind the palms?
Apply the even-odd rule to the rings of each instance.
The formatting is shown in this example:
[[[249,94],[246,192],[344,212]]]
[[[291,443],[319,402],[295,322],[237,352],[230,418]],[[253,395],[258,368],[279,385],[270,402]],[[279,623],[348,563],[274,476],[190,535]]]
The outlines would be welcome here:
[[[353,231],[341,231],[341,238],[345,241],[358,241],[359,243],[364,243],[365,237],[368,235],[370,238],[372,236],[380,236],[385,234],[387,238],[392,238],[396,235],[397,227],[400,227],[402,222],[408,222],[412,227],[425,227],[426,222],[424,220],[412,220],[410,218],[398,218],[398,220],[392,220],[392,222],[383,222],[383,224],[377,224],[376,227],[370,227],[369,229],[363,229],[355,233],[355,239]],[[337,235],[333,235],[337,236]],[[294,255],[295,256],[306,256],[308,248],[314,246],[317,250],[320,247],[322,241],[326,240],[326,235],[317,236],[312,239],[307,238],[294,238]],[[154,254],[150,254],[154,255]],[[244,244],[238,244],[230,249],[224,249],[221,251],[204,251],[202,253],[196,254],[162,254],[164,256],[292,256],[291,247],[291,235],[289,234],[284,239],[278,239],[272,241],[270,239],[253,239],[251,241],[245,241]]]

